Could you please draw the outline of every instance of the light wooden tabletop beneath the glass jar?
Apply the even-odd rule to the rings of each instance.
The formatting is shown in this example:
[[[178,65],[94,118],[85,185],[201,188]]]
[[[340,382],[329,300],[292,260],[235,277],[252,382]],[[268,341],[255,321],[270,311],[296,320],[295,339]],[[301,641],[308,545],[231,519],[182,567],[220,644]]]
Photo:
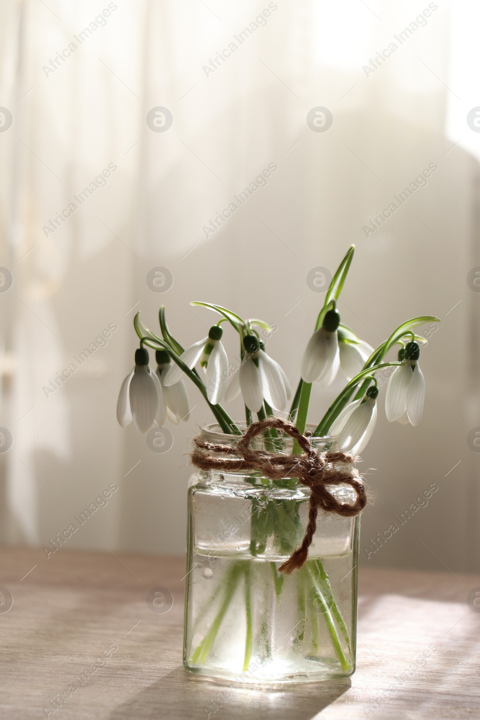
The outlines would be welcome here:
[[[1,549],[14,598],[0,613],[1,718],[480,718],[480,613],[466,604],[480,577],[361,570],[356,674],[267,691],[184,671],[184,572],[178,558]],[[157,587],[173,593],[167,613],[146,603]],[[82,678],[92,663],[102,667]]]

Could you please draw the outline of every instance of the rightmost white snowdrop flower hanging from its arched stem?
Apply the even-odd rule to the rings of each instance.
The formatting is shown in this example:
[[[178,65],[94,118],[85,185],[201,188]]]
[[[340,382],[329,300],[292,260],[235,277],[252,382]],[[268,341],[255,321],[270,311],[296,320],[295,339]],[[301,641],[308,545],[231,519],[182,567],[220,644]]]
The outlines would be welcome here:
[[[399,352],[403,364],[394,369],[386,388],[385,413],[391,423],[399,420],[403,425],[417,426],[422,419],[425,382],[418,365],[419,357],[420,346],[415,341],[407,343],[404,351]]]

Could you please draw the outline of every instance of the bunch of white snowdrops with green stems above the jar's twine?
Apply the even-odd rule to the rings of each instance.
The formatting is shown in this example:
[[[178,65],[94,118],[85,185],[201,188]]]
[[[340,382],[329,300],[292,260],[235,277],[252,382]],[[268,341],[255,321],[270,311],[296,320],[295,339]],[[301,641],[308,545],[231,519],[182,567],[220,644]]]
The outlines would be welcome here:
[[[385,410],[390,422],[416,426],[422,418],[425,384],[419,366],[420,346],[427,341],[414,333],[419,325],[438,318],[425,315],[407,320],[375,350],[340,322],[336,302],[353,259],[351,246],[332,279],[325,302],[307,343],[301,364],[301,378],[293,400],[289,380],[278,362],[268,356],[260,331],[271,332],[268,323],[257,318],[243,320],[232,310],[209,302],[191,302],[209,308],[220,316],[208,336],[184,348],[173,338],[160,307],[160,330],[155,335],[135,315],[134,327],[140,337],[135,352],[135,366],[122,383],[117,403],[117,419],[122,427],[132,420],[146,433],[155,424],[163,426],[166,418],[173,423],[189,419],[189,397],[184,377],[196,384],[224,433],[242,433],[220,404],[230,402],[241,392],[245,402],[245,422],[281,415],[295,423],[304,433],[307,424],[312,383],[328,387],[341,368],[348,380],[327,413],[312,432],[313,436],[331,435],[338,449],[356,455],[363,451],[376,424],[376,401],[379,395],[376,374],[393,368],[386,389]],[[222,345],[222,323],[230,323],[240,340],[241,364],[232,373]],[[150,367],[145,346],[155,349],[157,368]],[[394,346],[399,346],[395,361],[384,361]],[[204,379],[196,370],[199,365]],[[234,366],[235,368],[235,366]],[[229,382],[230,380],[230,382]],[[291,401],[290,407],[288,403]],[[296,449],[298,450],[298,449]]]

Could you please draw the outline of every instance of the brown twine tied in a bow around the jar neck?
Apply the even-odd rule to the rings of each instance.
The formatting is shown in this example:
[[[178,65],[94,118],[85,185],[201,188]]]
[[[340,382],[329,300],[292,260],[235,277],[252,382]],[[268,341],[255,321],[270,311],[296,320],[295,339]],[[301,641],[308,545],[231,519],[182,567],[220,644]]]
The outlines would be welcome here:
[[[303,455],[274,454],[264,450],[250,448],[250,441],[268,428],[278,428],[294,438],[304,451]],[[326,513],[337,513],[345,518],[358,515],[367,502],[363,480],[358,470],[351,467],[356,458],[343,452],[318,452],[309,439],[300,433],[294,425],[282,418],[266,418],[252,423],[237,442],[235,447],[207,443],[200,436],[194,438],[196,448],[191,454],[191,462],[201,470],[223,470],[225,472],[241,472],[243,470],[259,470],[270,480],[281,480],[283,477],[298,477],[302,485],[309,487],[308,524],[301,546],[294,550],[289,559],[279,570],[289,575],[293,570],[302,567],[307,560],[308,549],[317,529],[317,513],[322,508]],[[207,451],[207,452],[205,452]],[[213,453],[232,455],[230,458],[219,458]],[[350,467],[345,467],[348,465]],[[339,503],[327,490],[326,485],[340,485],[345,482],[356,491],[357,499],[353,505]]]

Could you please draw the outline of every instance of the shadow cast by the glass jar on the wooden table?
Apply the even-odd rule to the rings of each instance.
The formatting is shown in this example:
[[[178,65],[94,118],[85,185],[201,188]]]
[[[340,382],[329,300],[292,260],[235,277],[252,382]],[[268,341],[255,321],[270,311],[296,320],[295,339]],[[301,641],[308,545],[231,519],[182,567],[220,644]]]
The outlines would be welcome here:
[[[158,682],[114,708],[120,720],[311,720],[350,688],[350,680],[287,685],[281,689],[246,688],[189,675],[177,667]]]

